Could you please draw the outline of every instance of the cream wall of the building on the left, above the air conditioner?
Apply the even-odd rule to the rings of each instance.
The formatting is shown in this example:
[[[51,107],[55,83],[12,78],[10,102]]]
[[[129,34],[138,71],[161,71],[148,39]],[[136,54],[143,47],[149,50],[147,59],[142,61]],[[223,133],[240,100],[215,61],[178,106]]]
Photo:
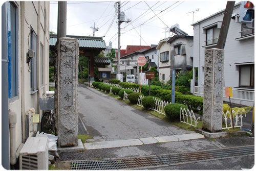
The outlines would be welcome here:
[[[40,117],[42,111],[39,109],[39,97],[49,90],[49,2],[14,2],[17,7],[17,77],[18,96],[9,99],[9,110],[17,114],[16,123],[16,149],[25,142],[26,125],[25,117],[30,108]],[[30,49],[30,29],[37,35],[37,90],[31,93],[30,68],[27,63],[27,51]],[[44,60],[41,62],[41,48],[44,46]],[[41,72],[40,66],[44,68]],[[40,77],[43,77],[43,83]],[[38,127],[39,128],[39,127]],[[38,130],[39,131],[39,130]],[[31,134],[32,135],[32,134]]]

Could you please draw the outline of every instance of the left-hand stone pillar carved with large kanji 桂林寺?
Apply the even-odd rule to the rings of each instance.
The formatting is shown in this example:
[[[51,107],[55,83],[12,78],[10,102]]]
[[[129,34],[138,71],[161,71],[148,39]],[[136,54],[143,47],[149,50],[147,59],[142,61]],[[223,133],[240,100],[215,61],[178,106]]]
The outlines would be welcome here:
[[[59,38],[55,74],[55,113],[59,146],[78,145],[78,58],[77,39]]]

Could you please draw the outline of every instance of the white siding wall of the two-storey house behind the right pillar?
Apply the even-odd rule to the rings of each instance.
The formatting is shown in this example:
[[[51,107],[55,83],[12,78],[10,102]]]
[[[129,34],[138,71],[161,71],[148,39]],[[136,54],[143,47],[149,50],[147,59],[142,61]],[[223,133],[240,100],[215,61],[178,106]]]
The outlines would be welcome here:
[[[240,5],[236,4],[233,13],[239,14]],[[204,52],[215,46],[205,46],[206,34],[203,28],[215,22],[222,22],[224,10],[194,24],[194,61],[193,66],[198,67],[198,86],[204,83]],[[249,38],[241,38],[241,23],[230,20],[230,26],[224,48],[224,82],[225,87],[239,86],[239,65],[236,63],[254,62],[254,34]],[[238,38],[238,39],[237,39]]]

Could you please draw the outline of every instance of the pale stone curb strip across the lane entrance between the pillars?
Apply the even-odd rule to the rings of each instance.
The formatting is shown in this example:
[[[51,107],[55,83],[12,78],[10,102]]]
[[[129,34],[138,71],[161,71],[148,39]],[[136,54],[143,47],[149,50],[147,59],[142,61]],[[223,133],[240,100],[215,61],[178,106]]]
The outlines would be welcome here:
[[[185,140],[199,139],[199,138],[204,138],[204,135],[199,133],[191,133],[191,134],[170,135],[170,136],[162,136],[162,137],[147,137],[147,138],[139,138],[139,139],[116,140],[116,141],[89,142],[89,143],[84,143],[83,145],[84,145],[84,148],[87,150],[94,150],[94,149],[118,148],[123,146],[153,144],[158,142],[185,141]]]

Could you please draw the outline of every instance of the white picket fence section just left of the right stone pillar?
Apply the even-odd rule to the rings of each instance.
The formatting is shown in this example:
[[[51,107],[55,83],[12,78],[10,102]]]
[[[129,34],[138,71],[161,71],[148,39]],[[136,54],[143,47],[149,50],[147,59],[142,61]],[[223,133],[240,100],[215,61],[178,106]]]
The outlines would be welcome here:
[[[180,121],[182,123],[197,127],[198,120],[200,117],[196,117],[193,110],[189,111],[188,109],[180,107]]]

